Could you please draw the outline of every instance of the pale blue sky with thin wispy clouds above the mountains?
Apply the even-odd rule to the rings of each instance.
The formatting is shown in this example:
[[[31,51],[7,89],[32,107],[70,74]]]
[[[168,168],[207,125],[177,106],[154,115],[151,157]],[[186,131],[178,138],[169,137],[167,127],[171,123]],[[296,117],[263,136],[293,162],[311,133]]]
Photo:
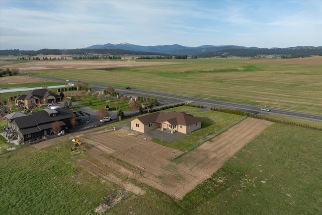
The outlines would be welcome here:
[[[0,1],[0,50],[322,46],[318,1]]]

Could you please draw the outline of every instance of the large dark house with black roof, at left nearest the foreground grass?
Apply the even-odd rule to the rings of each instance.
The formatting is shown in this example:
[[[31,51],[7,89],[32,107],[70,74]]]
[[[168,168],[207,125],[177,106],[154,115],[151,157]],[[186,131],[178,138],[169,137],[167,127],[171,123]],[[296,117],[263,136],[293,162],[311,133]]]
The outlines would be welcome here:
[[[44,109],[28,116],[14,118],[11,121],[11,126],[16,131],[20,142],[23,142],[53,134],[51,125],[55,121],[59,121],[61,129],[68,132],[72,117],[74,114],[67,107]]]

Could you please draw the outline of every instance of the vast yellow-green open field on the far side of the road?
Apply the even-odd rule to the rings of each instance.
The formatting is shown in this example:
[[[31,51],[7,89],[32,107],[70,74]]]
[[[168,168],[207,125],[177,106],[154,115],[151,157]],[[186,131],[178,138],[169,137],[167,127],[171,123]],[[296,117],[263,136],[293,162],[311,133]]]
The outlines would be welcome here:
[[[248,59],[249,60],[249,59]],[[117,87],[321,114],[322,65],[191,59],[115,70],[55,70],[55,77]],[[35,75],[51,77],[52,71]],[[99,77],[99,78],[98,78]]]

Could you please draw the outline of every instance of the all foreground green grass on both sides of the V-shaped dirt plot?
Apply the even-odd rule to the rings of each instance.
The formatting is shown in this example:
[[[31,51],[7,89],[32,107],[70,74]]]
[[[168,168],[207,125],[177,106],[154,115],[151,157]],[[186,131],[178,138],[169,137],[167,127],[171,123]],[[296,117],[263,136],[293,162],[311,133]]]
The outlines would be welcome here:
[[[150,188],[105,214],[321,214],[322,132],[275,123],[182,200]],[[69,141],[0,155],[1,214],[95,214],[117,185],[85,172]],[[133,182],[132,182],[133,183]]]

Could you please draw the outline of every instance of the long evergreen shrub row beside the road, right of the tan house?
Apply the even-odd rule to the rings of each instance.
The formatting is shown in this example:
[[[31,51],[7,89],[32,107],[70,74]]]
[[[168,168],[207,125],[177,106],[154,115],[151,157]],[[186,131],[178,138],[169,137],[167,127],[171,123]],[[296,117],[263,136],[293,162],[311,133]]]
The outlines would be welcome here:
[[[314,127],[314,126],[304,124],[304,123],[291,122],[291,121],[286,121],[286,120],[282,120],[282,119],[275,119],[270,116],[263,116],[263,115],[247,113],[247,112],[241,111],[241,110],[233,110],[233,109],[225,109],[225,108],[211,108],[211,110],[218,111],[218,112],[224,112],[224,113],[230,113],[230,114],[236,114],[236,115],[240,115],[240,116],[247,116],[247,117],[252,117],[252,118],[256,118],[256,119],[264,119],[264,120],[271,121],[271,122],[277,122],[277,123],[281,123],[281,124],[309,128],[309,129],[313,129],[313,130],[322,130],[322,127]]]

